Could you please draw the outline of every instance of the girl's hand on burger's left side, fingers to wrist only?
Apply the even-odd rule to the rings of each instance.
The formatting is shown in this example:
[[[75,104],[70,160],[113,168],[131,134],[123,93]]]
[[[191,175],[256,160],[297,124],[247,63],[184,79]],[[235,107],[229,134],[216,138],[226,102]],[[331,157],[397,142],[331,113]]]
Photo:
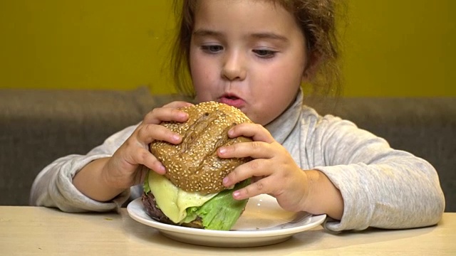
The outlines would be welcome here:
[[[165,174],[165,167],[149,151],[149,144],[162,140],[179,144],[182,138],[160,125],[162,121],[185,122],[188,115],[177,110],[192,105],[188,102],[171,102],[147,113],[135,132],[118,148],[102,170],[106,184],[126,189],[142,183],[148,169]]]

